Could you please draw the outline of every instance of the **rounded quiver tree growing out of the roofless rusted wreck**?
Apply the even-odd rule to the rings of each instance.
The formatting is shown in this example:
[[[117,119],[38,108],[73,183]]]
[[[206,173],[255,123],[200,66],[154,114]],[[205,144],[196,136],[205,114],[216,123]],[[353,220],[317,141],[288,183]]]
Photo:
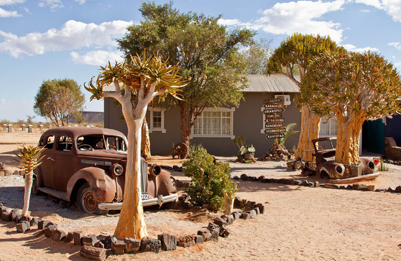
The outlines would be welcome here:
[[[399,74],[376,53],[326,52],[313,59],[301,88],[301,100],[313,113],[337,117],[335,160],[342,164],[358,163],[365,120],[391,117],[400,109]]]

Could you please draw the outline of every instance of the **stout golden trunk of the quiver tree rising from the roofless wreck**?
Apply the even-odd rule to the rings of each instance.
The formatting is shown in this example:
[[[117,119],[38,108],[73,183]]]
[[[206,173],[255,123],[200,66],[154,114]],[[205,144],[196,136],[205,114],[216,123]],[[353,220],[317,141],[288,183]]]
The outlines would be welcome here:
[[[336,162],[342,164],[359,162],[359,136],[363,121],[365,118],[360,115],[344,117],[341,113],[337,113]]]

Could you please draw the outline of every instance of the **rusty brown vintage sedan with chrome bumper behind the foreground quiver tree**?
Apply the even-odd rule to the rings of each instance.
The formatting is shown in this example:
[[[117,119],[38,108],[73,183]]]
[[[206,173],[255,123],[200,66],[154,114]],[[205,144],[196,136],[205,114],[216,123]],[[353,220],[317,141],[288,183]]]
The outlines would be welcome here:
[[[56,127],[40,138],[46,150],[35,169],[32,193],[76,202],[82,212],[104,214],[122,206],[127,164],[126,137],[113,129]],[[177,199],[171,174],[141,158],[143,206],[172,208]]]

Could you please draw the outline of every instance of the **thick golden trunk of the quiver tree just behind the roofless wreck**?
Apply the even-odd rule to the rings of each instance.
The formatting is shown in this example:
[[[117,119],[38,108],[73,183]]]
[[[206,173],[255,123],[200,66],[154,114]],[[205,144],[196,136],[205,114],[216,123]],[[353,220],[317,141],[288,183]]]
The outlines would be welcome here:
[[[320,117],[309,111],[308,106],[302,106],[301,133],[299,134],[298,148],[295,157],[301,157],[304,150],[314,150],[311,140],[319,137]],[[304,152],[303,159],[313,161],[313,152]]]

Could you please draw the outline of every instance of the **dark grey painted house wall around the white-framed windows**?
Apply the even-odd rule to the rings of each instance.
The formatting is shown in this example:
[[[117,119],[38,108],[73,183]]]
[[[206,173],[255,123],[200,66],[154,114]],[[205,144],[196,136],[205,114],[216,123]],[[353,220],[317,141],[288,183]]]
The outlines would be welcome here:
[[[282,93],[253,93],[247,92],[244,94],[245,100],[240,102],[238,108],[233,113],[234,135],[245,136],[247,138],[246,145],[252,144],[255,149],[255,157],[262,157],[263,153],[270,150],[274,140],[267,140],[265,134],[261,134],[263,128],[263,100],[274,98],[275,94]],[[289,93],[285,93],[289,94]],[[293,94],[291,101],[293,100]],[[127,134],[127,126],[123,120],[119,119],[121,115],[120,108],[113,105],[112,98],[105,98],[105,127],[117,129],[118,131]],[[150,113],[146,113],[146,121],[150,123]],[[295,122],[297,126],[295,131],[300,130],[301,113],[292,103],[286,106],[283,113],[285,124]],[[181,141],[180,119],[178,108],[172,108],[164,111],[164,128],[166,133],[153,132],[150,137],[150,152],[152,155],[170,155],[173,144]],[[287,149],[292,149],[298,143],[299,133],[287,139],[285,146]],[[208,152],[215,156],[236,156],[238,153],[237,145],[233,144],[231,138],[193,138],[190,140],[192,145],[202,144]]]

